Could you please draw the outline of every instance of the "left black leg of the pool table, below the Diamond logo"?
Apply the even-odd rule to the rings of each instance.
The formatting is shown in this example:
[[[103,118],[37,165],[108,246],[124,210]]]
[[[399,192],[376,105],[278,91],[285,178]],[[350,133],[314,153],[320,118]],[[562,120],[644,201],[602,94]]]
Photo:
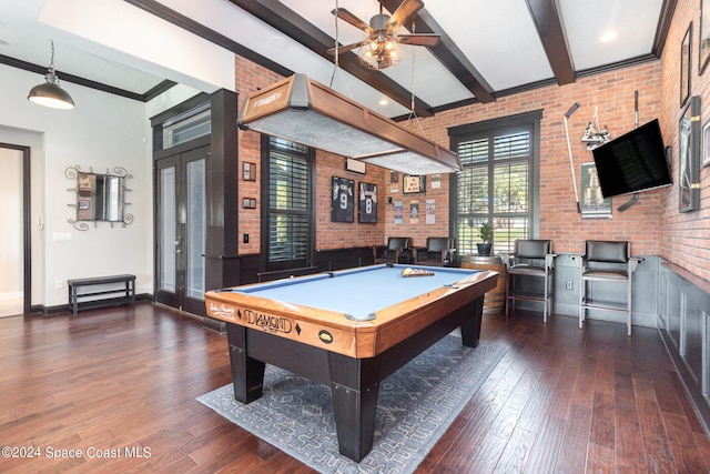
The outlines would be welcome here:
[[[230,344],[230,366],[232,367],[234,397],[242,403],[252,403],[262,396],[266,364],[248,356],[246,352],[246,327],[227,323],[226,337]]]

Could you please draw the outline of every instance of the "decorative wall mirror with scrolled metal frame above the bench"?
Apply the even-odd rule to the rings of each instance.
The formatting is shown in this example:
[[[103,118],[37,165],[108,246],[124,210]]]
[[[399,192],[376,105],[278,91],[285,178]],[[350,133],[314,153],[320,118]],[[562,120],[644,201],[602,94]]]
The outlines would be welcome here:
[[[131,191],[125,185],[125,180],[133,178],[124,168],[116,167],[113,172],[106,170],[104,174],[94,173],[93,169],[82,171],[79,165],[69,167],[64,175],[74,181],[75,186],[68,191],[75,193],[75,201],[69,204],[77,210],[77,216],[69,219],[69,223],[80,231],[89,230],[89,223],[94,228],[101,221],[109,222],[111,226],[120,223],[126,226],[133,222],[133,215],[125,212],[125,193]]]

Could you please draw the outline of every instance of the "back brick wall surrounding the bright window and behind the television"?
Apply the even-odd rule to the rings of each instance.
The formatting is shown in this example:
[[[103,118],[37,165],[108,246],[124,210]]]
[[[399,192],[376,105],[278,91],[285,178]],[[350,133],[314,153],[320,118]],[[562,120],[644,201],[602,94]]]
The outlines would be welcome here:
[[[639,124],[659,118],[660,61],[628,67],[575,83],[550,85],[515,95],[504,97],[494,103],[476,103],[456,110],[440,112],[436,117],[420,119],[425,134],[442,145],[448,145],[447,129],[523,112],[542,110],[540,123],[540,236],[552,239],[558,252],[581,252],[588,239],[629,240],[635,254],[659,254],[661,243],[662,190],[641,194],[638,204],[623,213],[616,210],[627,198],[613,199],[612,219],[581,219],[577,213],[567,141],[562,118],[575,102],[581,107],[569,119],[570,141],[577,186],[580,188],[580,165],[594,158],[579,139],[592,120],[597,108],[601,124],[609,128],[611,137],[618,137],[633,128],[633,92],[639,91]],[[437,224],[405,225],[416,244],[426,235],[448,233],[448,177],[443,179],[442,191],[436,193]],[[427,198],[429,196],[427,189]],[[402,198],[402,194],[393,198]],[[405,198],[405,202],[407,198]],[[386,234],[402,233],[387,221]]]

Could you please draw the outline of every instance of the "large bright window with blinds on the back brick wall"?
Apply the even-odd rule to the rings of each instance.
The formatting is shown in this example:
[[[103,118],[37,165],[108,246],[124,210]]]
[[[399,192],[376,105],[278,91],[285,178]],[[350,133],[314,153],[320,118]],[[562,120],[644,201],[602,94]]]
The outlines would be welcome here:
[[[494,224],[494,252],[537,233],[538,135],[541,113],[449,130],[463,170],[452,180],[452,232],[462,255],[476,253],[478,226]]]

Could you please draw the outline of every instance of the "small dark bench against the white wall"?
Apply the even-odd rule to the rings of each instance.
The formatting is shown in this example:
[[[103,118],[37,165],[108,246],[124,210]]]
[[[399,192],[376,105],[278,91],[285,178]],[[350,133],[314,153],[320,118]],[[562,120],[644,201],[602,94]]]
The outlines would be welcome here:
[[[120,286],[116,283],[122,283]],[[109,275],[109,276],[94,276],[90,279],[73,279],[67,281],[69,286],[69,309],[73,315],[77,315],[79,307],[102,307],[112,306],[115,304],[135,303],[135,275]],[[103,285],[102,289],[90,291],[85,293],[79,293],[79,289],[84,286]],[[113,288],[106,288],[113,285]],[[79,303],[80,299],[121,294],[114,297],[92,299]]]

